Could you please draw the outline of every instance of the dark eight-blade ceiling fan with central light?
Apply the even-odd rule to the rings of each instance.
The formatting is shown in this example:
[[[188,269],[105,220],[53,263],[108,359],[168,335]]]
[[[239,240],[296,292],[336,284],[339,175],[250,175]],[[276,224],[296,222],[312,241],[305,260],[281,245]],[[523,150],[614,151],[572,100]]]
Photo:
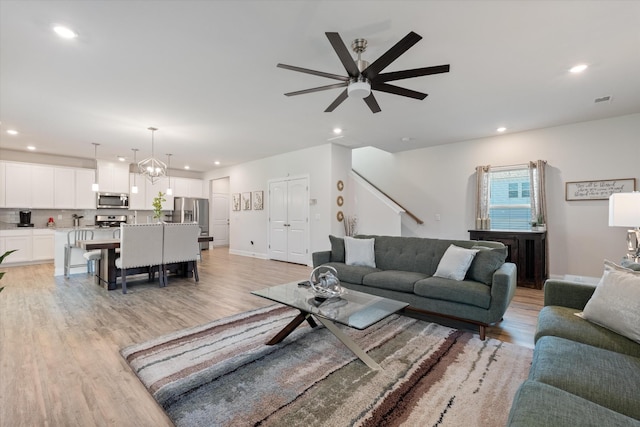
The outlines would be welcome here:
[[[372,64],[360,58],[362,52],[367,49],[367,41],[365,39],[355,39],[351,43],[351,49],[358,55],[358,59],[354,60],[349,53],[346,45],[338,33],[325,33],[333,50],[335,50],[338,58],[342,62],[348,76],[340,76],[338,74],[325,73],[322,71],[309,70],[307,68],[295,67],[293,65],[278,64],[279,68],[284,68],[301,73],[313,74],[316,76],[327,77],[334,80],[340,80],[341,83],[335,83],[327,86],[320,86],[311,89],[304,89],[295,92],[285,93],[286,96],[302,95],[305,93],[319,92],[322,90],[335,89],[345,87],[345,90],[327,107],[325,113],[329,113],[340,105],[347,97],[364,99],[372,113],[380,112],[378,101],[373,96],[372,90],[380,92],[392,93],[409,98],[424,99],[426,93],[417,92],[415,90],[405,89],[399,86],[390,85],[387,82],[401,79],[409,79],[412,77],[427,76],[430,74],[440,74],[449,72],[449,64],[437,65],[434,67],[414,68],[412,70],[394,71],[390,73],[380,73],[389,64],[398,59],[400,55],[409,50],[414,44],[418,43],[421,36],[413,31],[407,34],[402,40],[396,43],[391,49],[386,51],[381,57],[376,59]]]

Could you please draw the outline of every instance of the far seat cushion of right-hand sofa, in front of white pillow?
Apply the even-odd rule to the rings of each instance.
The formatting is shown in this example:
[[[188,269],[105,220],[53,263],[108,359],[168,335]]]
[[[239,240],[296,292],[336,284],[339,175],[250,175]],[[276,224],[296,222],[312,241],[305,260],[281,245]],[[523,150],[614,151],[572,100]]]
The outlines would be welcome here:
[[[538,315],[535,341],[547,335],[556,336],[640,357],[640,344],[576,316],[578,311],[554,305],[543,307]]]

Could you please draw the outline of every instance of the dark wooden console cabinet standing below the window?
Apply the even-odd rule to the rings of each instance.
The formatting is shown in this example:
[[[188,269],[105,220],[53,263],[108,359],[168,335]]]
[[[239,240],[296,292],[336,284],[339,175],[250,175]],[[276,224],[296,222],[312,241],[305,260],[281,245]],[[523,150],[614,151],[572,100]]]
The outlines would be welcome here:
[[[518,286],[542,289],[548,275],[546,231],[469,230],[469,237],[504,243],[507,261],[518,269]]]

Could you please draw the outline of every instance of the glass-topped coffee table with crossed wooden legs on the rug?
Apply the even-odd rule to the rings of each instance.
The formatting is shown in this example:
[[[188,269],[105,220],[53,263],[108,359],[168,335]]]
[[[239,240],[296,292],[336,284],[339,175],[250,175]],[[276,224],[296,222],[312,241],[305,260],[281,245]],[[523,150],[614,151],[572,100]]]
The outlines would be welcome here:
[[[380,365],[358,344],[345,335],[336,323],[362,330],[409,305],[404,302],[349,289],[345,289],[345,293],[339,298],[316,299],[308,285],[299,285],[298,282],[273,286],[251,293],[300,310],[300,314],[269,340],[267,345],[278,344],[305,320],[312,328],[317,327],[318,325],[314,321],[315,318],[368,367],[376,370],[380,369]]]

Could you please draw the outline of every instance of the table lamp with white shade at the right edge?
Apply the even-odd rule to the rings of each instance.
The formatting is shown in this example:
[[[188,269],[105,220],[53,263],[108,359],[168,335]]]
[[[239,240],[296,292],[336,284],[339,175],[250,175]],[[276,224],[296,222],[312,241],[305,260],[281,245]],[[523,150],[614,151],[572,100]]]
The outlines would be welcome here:
[[[627,258],[640,260],[640,191],[614,193],[609,197],[609,226],[633,227],[627,231]]]

